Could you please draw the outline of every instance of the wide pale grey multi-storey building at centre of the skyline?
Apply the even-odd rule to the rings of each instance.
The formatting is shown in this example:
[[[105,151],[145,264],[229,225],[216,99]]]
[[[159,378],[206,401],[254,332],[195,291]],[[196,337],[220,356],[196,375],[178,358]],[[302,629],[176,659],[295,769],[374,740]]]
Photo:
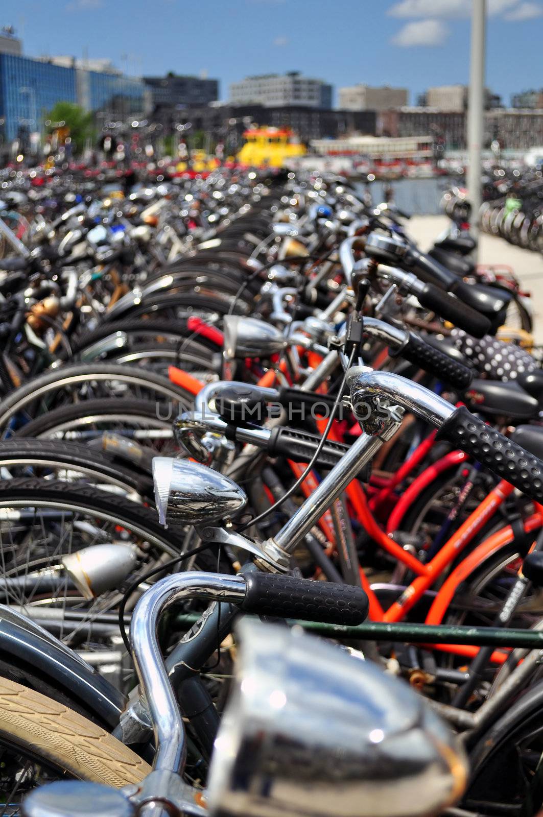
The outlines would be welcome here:
[[[257,103],[266,108],[289,105],[307,108],[332,106],[332,86],[321,79],[304,77],[299,71],[247,77],[230,86],[231,105]]]

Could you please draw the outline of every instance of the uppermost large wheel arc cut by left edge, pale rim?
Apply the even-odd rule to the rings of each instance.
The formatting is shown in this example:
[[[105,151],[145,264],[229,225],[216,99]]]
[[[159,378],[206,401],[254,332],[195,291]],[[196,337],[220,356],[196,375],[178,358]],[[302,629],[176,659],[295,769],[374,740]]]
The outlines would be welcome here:
[[[190,408],[192,395],[137,366],[70,364],[36,377],[2,400],[0,429],[22,425],[53,408],[99,397],[155,400]]]

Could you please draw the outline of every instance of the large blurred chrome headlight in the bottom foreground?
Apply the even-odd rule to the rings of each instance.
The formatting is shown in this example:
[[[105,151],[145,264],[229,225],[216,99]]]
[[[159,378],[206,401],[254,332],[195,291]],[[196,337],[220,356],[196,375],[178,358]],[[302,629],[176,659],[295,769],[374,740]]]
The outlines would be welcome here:
[[[282,627],[240,623],[215,741],[221,817],[428,817],[464,791],[458,739],[411,688]]]

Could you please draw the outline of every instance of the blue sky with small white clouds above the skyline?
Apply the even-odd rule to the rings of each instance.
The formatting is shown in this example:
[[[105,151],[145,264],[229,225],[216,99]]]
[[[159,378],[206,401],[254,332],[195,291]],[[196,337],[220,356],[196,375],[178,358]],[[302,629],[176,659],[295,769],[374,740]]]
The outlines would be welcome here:
[[[478,2],[478,0],[476,0]],[[471,0],[18,0],[25,53],[107,57],[130,74],[301,70],[336,88],[466,83]],[[543,87],[543,0],[487,0],[487,85]]]

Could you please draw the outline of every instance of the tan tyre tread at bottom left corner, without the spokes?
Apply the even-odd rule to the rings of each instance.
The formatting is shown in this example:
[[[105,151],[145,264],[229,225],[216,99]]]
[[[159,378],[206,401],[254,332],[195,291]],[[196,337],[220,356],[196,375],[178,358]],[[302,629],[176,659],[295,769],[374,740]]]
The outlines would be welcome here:
[[[139,783],[150,766],[100,726],[43,694],[0,677],[0,739],[69,775],[114,788]]]

